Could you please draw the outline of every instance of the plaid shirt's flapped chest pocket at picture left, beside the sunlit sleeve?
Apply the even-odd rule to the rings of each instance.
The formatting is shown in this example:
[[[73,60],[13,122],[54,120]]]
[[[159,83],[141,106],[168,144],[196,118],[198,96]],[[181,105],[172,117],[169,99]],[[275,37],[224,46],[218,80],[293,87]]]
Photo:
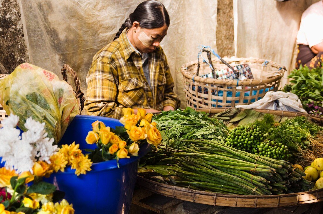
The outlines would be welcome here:
[[[142,88],[142,82],[136,78],[130,78],[120,81],[122,87],[122,100],[120,104],[125,107],[141,105],[145,96]]]

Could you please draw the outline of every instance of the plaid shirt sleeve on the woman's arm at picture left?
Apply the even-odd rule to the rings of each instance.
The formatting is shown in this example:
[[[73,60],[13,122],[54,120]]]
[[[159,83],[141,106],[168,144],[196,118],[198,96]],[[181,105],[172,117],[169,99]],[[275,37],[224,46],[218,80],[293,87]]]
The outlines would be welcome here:
[[[117,70],[109,63],[96,60],[86,78],[88,84],[85,109],[88,115],[120,119],[122,108],[116,103],[118,85]]]

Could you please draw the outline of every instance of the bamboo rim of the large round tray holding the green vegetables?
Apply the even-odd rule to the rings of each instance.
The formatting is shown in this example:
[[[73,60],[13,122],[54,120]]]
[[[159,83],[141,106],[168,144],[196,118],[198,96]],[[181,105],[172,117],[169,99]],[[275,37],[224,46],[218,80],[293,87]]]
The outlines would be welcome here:
[[[208,108],[208,109],[196,109],[197,111],[203,111],[210,114],[223,112],[229,108]],[[253,109],[257,112],[270,113],[279,116],[296,117],[305,116],[311,119],[313,122],[323,125],[323,118],[312,116],[300,112],[287,112],[276,110],[264,110]],[[141,176],[137,176],[137,185],[145,190],[164,195],[167,197],[191,201],[201,204],[227,206],[227,207],[249,207],[249,208],[265,208],[265,207],[287,207],[298,206],[302,204],[311,204],[319,201],[323,201],[323,189],[312,190],[307,192],[298,192],[282,195],[233,195],[223,194],[216,192],[207,192],[200,190],[192,190],[188,188],[173,186],[169,184],[163,184],[156,181],[152,181]]]

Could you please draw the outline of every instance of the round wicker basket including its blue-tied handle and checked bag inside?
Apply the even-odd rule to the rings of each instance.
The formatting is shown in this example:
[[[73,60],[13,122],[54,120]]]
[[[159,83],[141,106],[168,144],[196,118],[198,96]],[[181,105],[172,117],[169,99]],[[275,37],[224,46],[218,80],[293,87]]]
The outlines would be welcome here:
[[[221,76],[224,70],[228,71],[225,78]],[[181,67],[186,104],[197,109],[251,104],[266,92],[277,91],[285,71],[284,66],[269,60],[221,58],[210,47],[202,46],[198,60]]]

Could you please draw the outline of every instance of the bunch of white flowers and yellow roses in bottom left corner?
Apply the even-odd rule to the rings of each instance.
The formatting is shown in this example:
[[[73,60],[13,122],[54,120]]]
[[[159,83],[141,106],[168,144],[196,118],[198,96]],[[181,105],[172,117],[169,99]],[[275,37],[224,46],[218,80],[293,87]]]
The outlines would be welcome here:
[[[28,118],[27,131],[20,134],[18,121],[18,116],[11,115],[0,129],[0,156],[5,165],[0,168],[0,213],[73,214],[72,204],[63,199],[64,192],[42,180],[57,168],[50,159],[58,150],[52,145],[54,139],[47,137],[45,123]]]

